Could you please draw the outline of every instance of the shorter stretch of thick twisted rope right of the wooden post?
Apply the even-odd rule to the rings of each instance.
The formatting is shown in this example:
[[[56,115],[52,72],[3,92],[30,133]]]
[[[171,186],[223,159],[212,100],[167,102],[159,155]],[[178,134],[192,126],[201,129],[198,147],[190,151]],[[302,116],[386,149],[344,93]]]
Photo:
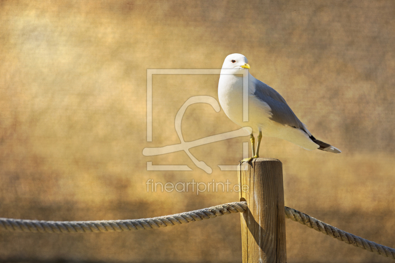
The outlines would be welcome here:
[[[285,217],[291,219],[292,221],[296,221],[300,224],[313,228],[325,235],[329,235],[333,238],[337,238],[340,241],[344,241],[347,244],[352,244],[353,246],[356,246],[358,248],[365,249],[370,252],[374,252],[381,256],[395,260],[395,249],[377,244],[362,237],[340,230],[332,225],[323,223],[322,221],[319,221],[318,219],[315,219],[314,217],[311,217],[305,213],[299,212],[298,210],[285,207]]]

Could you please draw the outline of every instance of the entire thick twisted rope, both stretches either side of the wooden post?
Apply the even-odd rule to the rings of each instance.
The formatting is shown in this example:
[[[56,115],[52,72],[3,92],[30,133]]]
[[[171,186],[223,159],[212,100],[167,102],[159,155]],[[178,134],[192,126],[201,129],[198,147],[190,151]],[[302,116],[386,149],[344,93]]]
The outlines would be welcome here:
[[[189,222],[201,221],[232,213],[244,213],[247,208],[247,202],[234,202],[170,216],[111,221],[38,221],[0,218],[0,231],[87,233],[144,230],[187,224]],[[345,232],[287,206],[285,207],[285,217],[313,228],[325,235],[344,241],[347,244],[352,244],[361,249],[375,252],[381,256],[395,260],[395,249]]]

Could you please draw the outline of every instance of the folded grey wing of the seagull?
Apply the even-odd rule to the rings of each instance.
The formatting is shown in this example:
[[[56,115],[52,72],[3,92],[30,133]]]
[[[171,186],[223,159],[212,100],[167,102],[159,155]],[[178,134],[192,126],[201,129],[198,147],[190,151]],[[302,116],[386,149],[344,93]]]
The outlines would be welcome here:
[[[272,87],[257,79],[255,81],[254,95],[270,106],[273,114],[272,120],[304,130],[303,123],[292,112],[284,98]]]

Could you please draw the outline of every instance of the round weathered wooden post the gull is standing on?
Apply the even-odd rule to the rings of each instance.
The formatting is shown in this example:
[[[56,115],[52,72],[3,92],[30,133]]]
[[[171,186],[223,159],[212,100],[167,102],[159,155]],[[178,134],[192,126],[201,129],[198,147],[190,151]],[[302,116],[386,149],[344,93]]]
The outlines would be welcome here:
[[[286,263],[282,163],[257,158],[238,173],[240,201],[248,204],[240,214],[243,263]]]

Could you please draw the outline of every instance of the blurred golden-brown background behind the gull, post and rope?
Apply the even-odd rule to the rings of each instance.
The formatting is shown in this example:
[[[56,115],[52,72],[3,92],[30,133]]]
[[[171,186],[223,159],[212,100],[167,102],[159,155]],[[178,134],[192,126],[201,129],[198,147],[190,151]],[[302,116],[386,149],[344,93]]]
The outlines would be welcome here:
[[[185,152],[174,118],[191,96],[218,99],[219,75],[154,75],[147,142],[147,69],[220,69],[231,53],[274,87],[317,139],[343,153],[263,138],[283,163],[285,205],[395,247],[395,2],[0,1],[0,217],[137,219],[238,200],[236,192],[147,192],[146,182],[237,183],[248,137]],[[185,141],[236,130],[195,104]],[[147,162],[193,171],[147,171]],[[390,262],[286,220],[287,258]],[[239,215],[147,231],[0,232],[2,262],[241,262]]]

